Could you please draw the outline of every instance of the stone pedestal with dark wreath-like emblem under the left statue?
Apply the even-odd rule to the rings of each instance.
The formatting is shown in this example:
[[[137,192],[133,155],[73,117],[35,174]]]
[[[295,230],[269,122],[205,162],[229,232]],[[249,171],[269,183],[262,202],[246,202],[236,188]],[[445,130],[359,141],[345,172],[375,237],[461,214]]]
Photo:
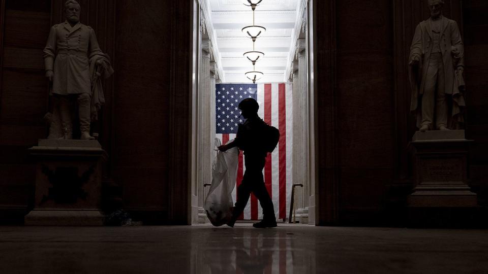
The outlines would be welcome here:
[[[36,191],[25,225],[103,225],[100,167],[106,154],[98,141],[41,139],[29,152]]]

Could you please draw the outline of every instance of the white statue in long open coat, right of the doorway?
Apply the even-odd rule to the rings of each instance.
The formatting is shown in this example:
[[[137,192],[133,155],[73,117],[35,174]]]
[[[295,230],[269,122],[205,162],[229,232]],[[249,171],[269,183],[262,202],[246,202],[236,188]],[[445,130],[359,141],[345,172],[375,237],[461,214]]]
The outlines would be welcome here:
[[[443,0],[429,0],[431,17],[420,22],[410,47],[410,110],[420,131],[461,129],[464,123],[464,46]]]

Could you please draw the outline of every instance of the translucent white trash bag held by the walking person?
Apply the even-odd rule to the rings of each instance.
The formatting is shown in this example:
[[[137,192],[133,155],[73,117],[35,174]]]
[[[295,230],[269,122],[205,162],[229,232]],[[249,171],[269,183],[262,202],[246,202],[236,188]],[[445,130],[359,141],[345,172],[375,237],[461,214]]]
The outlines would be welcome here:
[[[233,140],[227,142],[229,144]],[[217,150],[217,157],[212,163],[212,184],[208,190],[203,208],[208,219],[215,226],[227,223],[232,217],[232,190],[237,178],[237,163],[239,150],[231,148],[225,152],[217,148],[221,145],[219,139],[215,139],[214,146]]]

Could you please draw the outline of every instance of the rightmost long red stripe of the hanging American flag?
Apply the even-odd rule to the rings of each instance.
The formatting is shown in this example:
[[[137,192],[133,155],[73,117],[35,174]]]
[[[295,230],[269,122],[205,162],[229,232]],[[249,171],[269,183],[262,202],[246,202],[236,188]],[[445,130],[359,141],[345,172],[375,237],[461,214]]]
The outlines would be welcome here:
[[[278,84],[278,120],[280,130],[279,174],[280,174],[280,219],[286,218],[286,92],[285,84]]]

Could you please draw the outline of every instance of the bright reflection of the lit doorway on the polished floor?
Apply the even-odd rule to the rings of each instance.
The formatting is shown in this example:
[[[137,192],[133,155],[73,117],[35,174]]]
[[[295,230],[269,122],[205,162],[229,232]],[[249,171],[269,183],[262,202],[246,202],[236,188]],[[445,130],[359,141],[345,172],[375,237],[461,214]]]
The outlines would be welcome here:
[[[295,233],[277,229],[212,228],[205,241],[193,242],[201,273],[306,273],[315,272],[315,242],[303,243]],[[226,238],[223,244],[222,238]],[[229,237],[231,236],[231,237]],[[199,244],[200,243],[200,244]]]

